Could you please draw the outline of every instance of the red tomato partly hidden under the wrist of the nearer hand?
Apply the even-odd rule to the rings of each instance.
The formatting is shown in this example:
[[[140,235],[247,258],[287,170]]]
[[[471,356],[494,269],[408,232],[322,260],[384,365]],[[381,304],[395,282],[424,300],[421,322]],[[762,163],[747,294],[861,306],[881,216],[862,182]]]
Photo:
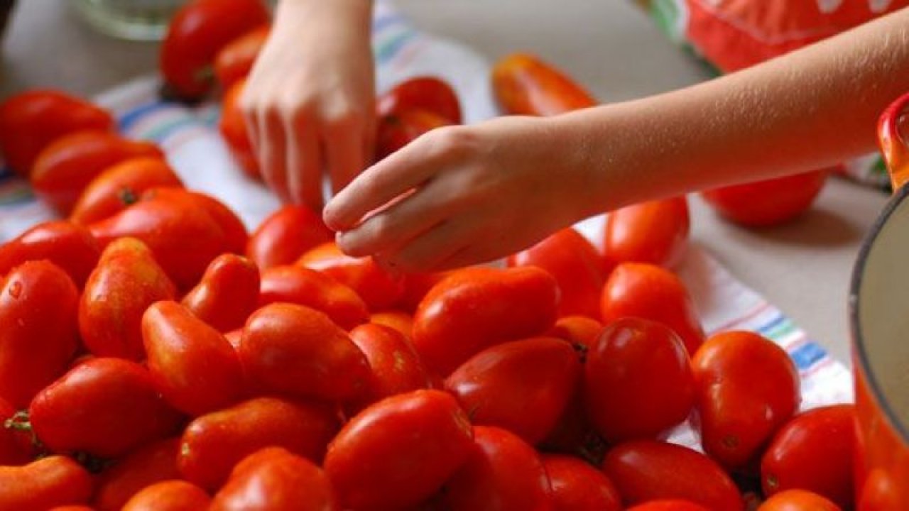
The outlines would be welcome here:
[[[604,275],[601,257],[587,238],[566,227],[507,258],[508,266],[539,266],[559,286],[559,316],[599,317]]]

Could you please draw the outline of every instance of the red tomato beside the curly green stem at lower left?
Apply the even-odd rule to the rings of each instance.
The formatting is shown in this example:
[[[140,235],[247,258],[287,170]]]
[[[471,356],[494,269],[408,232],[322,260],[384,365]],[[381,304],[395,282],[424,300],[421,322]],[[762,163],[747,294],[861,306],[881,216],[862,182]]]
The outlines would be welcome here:
[[[123,456],[175,432],[181,417],[165,403],[155,378],[122,358],[91,358],[32,400],[35,436],[56,452]]]

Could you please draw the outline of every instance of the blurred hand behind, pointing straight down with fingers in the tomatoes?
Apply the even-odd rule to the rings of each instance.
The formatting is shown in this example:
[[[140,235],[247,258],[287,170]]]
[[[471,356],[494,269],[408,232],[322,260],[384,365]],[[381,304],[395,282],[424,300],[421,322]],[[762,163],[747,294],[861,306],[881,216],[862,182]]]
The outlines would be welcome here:
[[[375,79],[368,0],[282,0],[241,98],[265,183],[285,202],[323,205],[371,160]]]

